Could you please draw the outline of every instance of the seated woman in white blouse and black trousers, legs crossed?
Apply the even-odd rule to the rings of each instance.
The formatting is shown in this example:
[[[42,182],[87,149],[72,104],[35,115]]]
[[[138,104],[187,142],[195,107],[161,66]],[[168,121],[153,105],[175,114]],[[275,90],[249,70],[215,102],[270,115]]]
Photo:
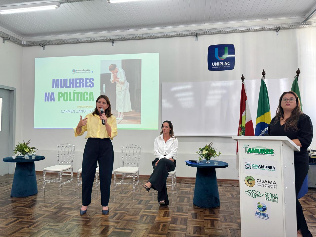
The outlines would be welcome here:
[[[160,136],[156,137],[154,152],[156,159],[152,161],[154,172],[143,187],[149,191],[153,188],[158,191],[160,205],[169,205],[166,180],[170,171],[176,168],[176,159],[173,159],[178,149],[178,139],[173,136],[173,126],[170,121],[161,125]]]

